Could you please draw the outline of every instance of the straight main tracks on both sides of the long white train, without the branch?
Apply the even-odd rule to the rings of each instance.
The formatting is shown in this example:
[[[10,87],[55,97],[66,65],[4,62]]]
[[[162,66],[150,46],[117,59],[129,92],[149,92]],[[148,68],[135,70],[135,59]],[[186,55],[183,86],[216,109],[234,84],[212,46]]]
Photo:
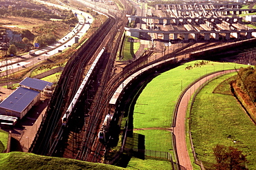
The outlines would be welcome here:
[[[100,162],[104,154],[104,145],[98,142],[96,134],[98,134],[102,112],[107,111],[107,103],[103,97],[104,86],[107,85],[110,78],[118,51],[118,44],[113,43],[112,45],[111,43],[120,41],[124,30],[123,25],[127,22],[125,20],[125,13],[122,15],[120,23],[116,23],[116,20],[110,17],[109,21],[104,23],[101,29],[98,29],[98,34],[95,35],[98,40],[92,38],[89,43],[83,45],[82,50],[72,56],[73,59],[68,61],[55,90],[55,97],[51,100],[50,109],[44,119],[43,124],[47,125],[42,125],[37,142],[30,148],[32,152],[47,156],[64,156]],[[120,32],[120,34],[116,36],[116,32]],[[104,42],[104,39],[109,41]],[[63,128],[60,118],[77,92],[84,74],[82,70],[86,65],[92,63],[94,58],[91,56],[102,46],[106,46],[106,49],[110,51],[104,55],[105,60],[102,61],[104,64],[97,66],[96,72],[102,71],[102,74],[94,74],[89,80],[73,113],[70,113],[71,116],[68,118],[66,127]],[[49,114],[50,112],[51,114]]]

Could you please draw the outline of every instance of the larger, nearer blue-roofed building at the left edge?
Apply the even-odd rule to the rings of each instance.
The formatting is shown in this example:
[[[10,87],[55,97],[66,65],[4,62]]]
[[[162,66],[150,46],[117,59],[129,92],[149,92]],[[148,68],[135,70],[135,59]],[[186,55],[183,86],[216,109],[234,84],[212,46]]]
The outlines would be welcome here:
[[[23,118],[28,111],[39,103],[40,92],[25,87],[19,87],[0,103],[0,114]]]

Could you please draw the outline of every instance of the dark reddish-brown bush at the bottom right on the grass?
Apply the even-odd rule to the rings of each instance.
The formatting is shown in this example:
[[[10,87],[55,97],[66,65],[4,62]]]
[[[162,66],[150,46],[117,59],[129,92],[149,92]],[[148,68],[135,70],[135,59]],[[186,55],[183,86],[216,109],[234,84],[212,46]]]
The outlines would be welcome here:
[[[224,145],[216,145],[213,148],[217,170],[240,170],[246,168],[246,156],[235,147],[226,147]]]

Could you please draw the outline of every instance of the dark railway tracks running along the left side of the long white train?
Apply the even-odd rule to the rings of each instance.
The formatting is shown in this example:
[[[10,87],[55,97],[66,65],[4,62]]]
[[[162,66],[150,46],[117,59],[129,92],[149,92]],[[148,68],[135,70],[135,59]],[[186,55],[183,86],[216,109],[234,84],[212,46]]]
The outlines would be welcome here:
[[[106,31],[108,23],[111,22],[107,21],[95,34],[96,37],[104,39],[104,31]],[[82,70],[84,70],[85,65],[89,65],[90,59],[101,43],[102,41],[91,39],[90,43],[84,45],[83,50],[77,52],[75,56],[71,56],[71,60],[68,61],[55,89],[54,97],[46,112],[46,118],[43,120],[37,140],[30,149],[33,153],[51,156],[60,155],[60,153],[53,151],[57,147],[55,141],[60,140],[60,136],[57,134],[62,134],[59,130],[62,125],[60,118],[63,116],[68,103],[70,103],[71,98],[79,87],[78,84],[80,84],[84,73]],[[55,147],[53,148],[54,145]]]

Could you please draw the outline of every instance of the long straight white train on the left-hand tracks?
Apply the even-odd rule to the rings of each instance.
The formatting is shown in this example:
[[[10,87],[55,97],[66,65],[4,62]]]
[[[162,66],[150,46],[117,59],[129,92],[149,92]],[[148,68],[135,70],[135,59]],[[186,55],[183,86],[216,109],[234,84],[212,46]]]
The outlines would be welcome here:
[[[71,103],[68,105],[68,109],[66,109],[64,116],[62,116],[62,126],[66,127],[68,118],[71,115],[73,108],[75,107],[75,105],[77,103],[77,100],[79,100],[84,87],[86,86],[87,82],[89,81],[89,78],[91,78],[91,74],[93,74],[93,70],[95,69],[95,66],[98,64],[98,61],[100,60],[100,57],[102,56],[104,51],[105,51],[105,47],[103,47],[102,50],[100,50],[100,53],[96,57],[95,61],[93,61],[93,64],[91,65],[89,71],[87,72],[86,76],[84,77],[84,80],[82,81],[80,87],[78,88],[77,92],[75,93],[75,96],[71,100]]]

